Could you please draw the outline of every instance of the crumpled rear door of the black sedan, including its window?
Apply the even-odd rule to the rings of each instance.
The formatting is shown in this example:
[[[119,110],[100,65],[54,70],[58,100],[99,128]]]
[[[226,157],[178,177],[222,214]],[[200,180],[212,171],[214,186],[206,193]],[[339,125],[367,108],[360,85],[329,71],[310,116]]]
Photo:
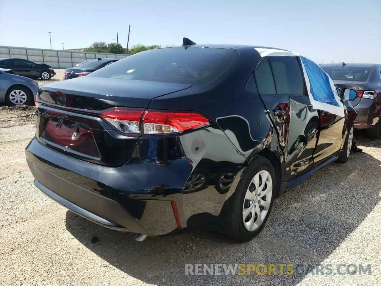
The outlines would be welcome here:
[[[289,181],[313,166],[318,111],[311,106],[298,57],[265,57],[254,76],[277,129],[285,156],[285,180]]]

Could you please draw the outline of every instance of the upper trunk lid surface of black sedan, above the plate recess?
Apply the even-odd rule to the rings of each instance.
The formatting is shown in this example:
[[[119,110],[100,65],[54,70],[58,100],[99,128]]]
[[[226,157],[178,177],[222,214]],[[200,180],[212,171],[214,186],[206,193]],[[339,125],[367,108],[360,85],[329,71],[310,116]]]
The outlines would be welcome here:
[[[94,111],[114,106],[147,108],[153,98],[191,86],[130,79],[82,77],[43,85],[40,98],[50,104]]]

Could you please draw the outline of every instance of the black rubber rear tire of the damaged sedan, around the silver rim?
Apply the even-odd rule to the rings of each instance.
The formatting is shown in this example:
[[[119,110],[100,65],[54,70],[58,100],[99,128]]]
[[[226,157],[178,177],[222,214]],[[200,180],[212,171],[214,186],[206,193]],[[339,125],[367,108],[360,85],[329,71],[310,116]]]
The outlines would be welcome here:
[[[267,210],[266,217],[264,217],[262,223],[253,231],[247,230],[244,226],[243,222],[243,206],[247,202],[245,201],[246,192],[251,185],[251,180],[254,176],[260,171],[267,171],[272,180],[272,196],[269,204],[269,208]],[[253,162],[247,167],[243,177],[240,179],[237,188],[235,189],[234,194],[227,201],[227,206],[224,207],[221,220],[221,233],[227,238],[231,239],[237,243],[243,243],[246,241],[250,241],[251,239],[257,236],[270,215],[271,207],[274,202],[274,198],[276,196],[276,177],[275,171],[272,167],[272,164],[269,160],[262,156],[257,156],[253,159]],[[259,202],[259,201],[258,201]],[[255,208],[256,209],[256,208]],[[260,210],[261,211],[261,210]],[[255,216],[256,217],[256,216]],[[255,218],[254,217],[254,218]]]

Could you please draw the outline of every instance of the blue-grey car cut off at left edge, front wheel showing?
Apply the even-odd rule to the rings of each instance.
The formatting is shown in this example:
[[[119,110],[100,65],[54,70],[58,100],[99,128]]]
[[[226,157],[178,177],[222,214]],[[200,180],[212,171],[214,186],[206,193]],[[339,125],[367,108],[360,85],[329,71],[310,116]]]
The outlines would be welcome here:
[[[11,69],[0,68],[0,103],[8,106],[33,104],[38,83],[28,77],[17,76]]]

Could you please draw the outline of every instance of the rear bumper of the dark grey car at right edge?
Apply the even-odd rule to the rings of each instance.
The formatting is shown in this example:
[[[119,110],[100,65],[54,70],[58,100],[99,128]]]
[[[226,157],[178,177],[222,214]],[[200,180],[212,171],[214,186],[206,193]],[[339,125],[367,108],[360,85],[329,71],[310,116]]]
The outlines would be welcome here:
[[[357,112],[357,117],[353,122],[355,129],[373,128],[378,123],[380,110],[377,108],[375,100],[362,98],[354,109]]]

